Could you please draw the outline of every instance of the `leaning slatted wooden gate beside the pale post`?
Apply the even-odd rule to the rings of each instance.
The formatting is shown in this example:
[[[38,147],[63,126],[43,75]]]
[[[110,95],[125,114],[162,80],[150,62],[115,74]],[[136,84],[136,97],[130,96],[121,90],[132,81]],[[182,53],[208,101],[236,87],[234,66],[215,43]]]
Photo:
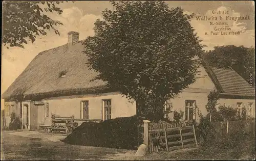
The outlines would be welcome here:
[[[144,120],[140,126],[142,143],[148,146],[150,152],[162,150],[174,150],[177,148],[185,148],[197,146],[195,127],[185,126],[185,123],[150,123]],[[183,125],[183,126],[182,126]],[[143,130],[142,130],[143,127]],[[143,131],[143,132],[142,132]],[[138,142],[139,145],[141,142]]]

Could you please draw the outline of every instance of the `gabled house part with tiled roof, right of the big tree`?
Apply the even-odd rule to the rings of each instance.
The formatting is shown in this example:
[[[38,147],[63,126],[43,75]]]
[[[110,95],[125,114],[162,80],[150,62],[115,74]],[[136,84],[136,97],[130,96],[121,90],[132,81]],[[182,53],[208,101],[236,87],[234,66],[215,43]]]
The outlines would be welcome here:
[[[207,65],[200,67],[199,71],[194,84],[174,99],[170,99],[174,110],[184,112],[184,120],[199,121],[196,106],[203,115],[207,114],[207,96],[214,90],[220,92],[218,105],[238,108],[240,114],[245,107],[246,114],[255,117],[255,91],[236,71]]]

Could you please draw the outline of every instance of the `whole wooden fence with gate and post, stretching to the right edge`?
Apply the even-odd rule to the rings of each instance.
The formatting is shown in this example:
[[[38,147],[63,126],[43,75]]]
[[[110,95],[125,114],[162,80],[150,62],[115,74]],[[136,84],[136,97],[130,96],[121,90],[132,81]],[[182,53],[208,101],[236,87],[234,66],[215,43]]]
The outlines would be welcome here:
[[[207,139],[223,139],[227,137],[228,135],[232,135],[234,133],[237,133],[238,131],[244,131],[244,132],[254,132],[255,133],[255,120],[245,120],[245,121],[223,121],[223,122],[211,122],[211,126],[209,127],[200,127],[201,125],[199,123],[194,123],[194,128],[195,128],[195,139],[197,140],[198,144],[204,143]],[[147,127],[145,127],[145,125]],[[167,135],[167,140],[168,143],[172,141],[170,138],[175,138],[176,137],[176,142],[178,141],[181,143],[181,139],[179,138],[180,133],[172,133],[169,129],[184,129],[184,127],[193,127],[190,122],[183,122],[181,124],[177,123],[167,123],[167,122],[161,122],[161,123],[143,123],[139,124],[138,126],[138,146],[141,144],[146,144],[150,146],[150,151],[158,151],[159,148],[162,147],[163,144],[166,144],[165,142],[165,130],[166,130],[166,135]],[[144,133],[145,129],[148,129],[148,133]],[[157,131],[157,132],[156,132]],[[159,133],[160,132],[160,135]],[[184,137],[186,135],[191,135],[191,133],[187,134],[185,133],[186,131],[182,130],[182,134]],[[191,132],[191,131],[190,131]],[[193,130],[194,132],[194,130]],[[145,138],[147,137],[147,138]],[[158,143],[156,138],[161,138],[158,139],[160,142]],[[210,137],[210,138],[207,138]],[[186,138],[185,138],[186,139]],[[148,142],[145,142],[148,140]],[[168,146],[170,146],[172,143],[170,143]],[[160,146],[161,145],[161,146]],[[185,144],[184,144],[185,145]],[[178,147],[182,147],[182,145],[178,145]],[[184,146],[186,147],[186,146]],[[171,148],[168,147],[165,148],[166,150],[169,150]]]

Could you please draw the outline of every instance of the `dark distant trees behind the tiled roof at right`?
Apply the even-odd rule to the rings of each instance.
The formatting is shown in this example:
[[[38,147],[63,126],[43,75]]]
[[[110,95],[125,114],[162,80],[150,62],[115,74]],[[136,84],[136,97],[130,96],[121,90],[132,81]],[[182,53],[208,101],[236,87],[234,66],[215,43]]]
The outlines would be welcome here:
[[[251,77],[255,80],[254,47],[248,48],[234,45],[215,46],[214,50],[205,52],[205,60],[210,66],[237,71],[247,82],[250,82]]]

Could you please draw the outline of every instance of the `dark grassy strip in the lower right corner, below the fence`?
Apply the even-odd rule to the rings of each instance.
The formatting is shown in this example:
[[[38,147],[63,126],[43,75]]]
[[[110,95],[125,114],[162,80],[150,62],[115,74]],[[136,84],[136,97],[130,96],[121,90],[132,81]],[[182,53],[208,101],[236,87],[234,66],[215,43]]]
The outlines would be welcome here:
[[[197,149],[162,151],[143,157],[124,157],[119,160],[253,160],[255,159],[255,132],[240,131],[229,137],[212,140]]]

